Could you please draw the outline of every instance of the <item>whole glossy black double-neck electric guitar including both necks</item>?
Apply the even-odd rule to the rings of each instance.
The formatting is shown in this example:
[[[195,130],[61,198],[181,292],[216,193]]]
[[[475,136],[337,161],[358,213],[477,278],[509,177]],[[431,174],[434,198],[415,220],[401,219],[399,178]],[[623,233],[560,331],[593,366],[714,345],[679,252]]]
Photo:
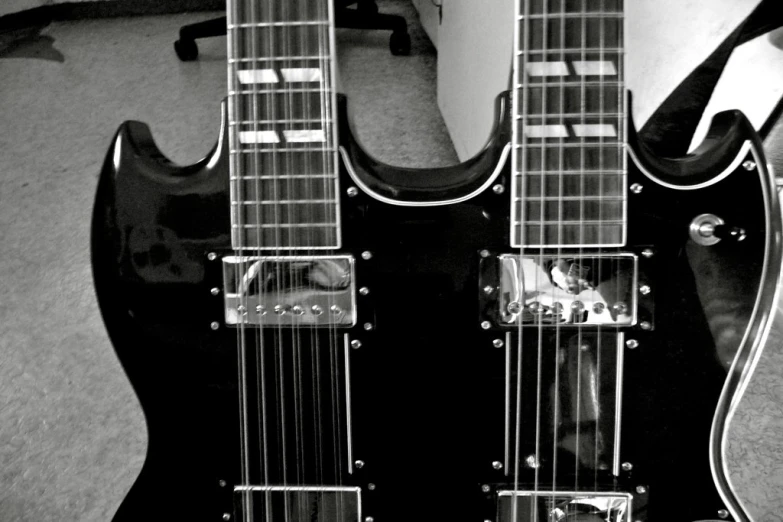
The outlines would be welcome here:
[[[115,522],[750,520],[723,440],[781,217],[741,114],[655,157],[622,0],[530,0],[486,148],[395,168],[352,137],[328,0],[228,7],[215,149],[178,167],[127,122],[98,188],[95,285],[149,429]]]

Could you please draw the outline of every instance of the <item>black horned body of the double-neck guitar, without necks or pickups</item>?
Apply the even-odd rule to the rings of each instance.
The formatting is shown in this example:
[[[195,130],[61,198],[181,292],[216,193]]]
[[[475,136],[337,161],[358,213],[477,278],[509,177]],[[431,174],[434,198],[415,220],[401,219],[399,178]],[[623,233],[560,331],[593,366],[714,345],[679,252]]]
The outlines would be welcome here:
[[[719,520],[720,510],[750,520],[727,482],[723,438],[767,340],[781,239],[752,127],[722,114],[680,160],[655,158],[632,134],[627,247],[600,250],[635,256],[635,324],[509,328],[492,311],[498,256],[519,254],[500,100],[481,155],[415,173],[365,155],[341,103],[333,254],[352,256],[362,289],[355,324],[341,329],[226,326],[225,124],[188,167],[168,162],[143,124],[121,127],[96,198],[93,270],[149,447],[115,522],[526,520],[530,504],[513,507],[507,492],[553,481],[568,499],[626,495],[628,512],[610,520]],[[698,245],[689,227],[702,214],[746,237]],[[566,413],[574,406],[581,418]],[[287,500],[248,483],[289,487]],[[298,486],[340,486],[360,501],[335,507]],[[558,520],[609,520],[585,505]]]

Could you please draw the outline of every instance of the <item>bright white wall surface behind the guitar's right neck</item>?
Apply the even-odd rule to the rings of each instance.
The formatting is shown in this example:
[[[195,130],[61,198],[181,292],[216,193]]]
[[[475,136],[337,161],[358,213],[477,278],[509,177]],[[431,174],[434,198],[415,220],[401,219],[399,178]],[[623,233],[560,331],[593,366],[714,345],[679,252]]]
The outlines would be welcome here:
[[[514,0],[442,2],[438,103],[464,160],[486,142],[493,100],[509,86]],[[626,83],[637,127],[758,2],[626,1]],[[708,113],[739,108],[760,125],[783,94],[783,51],[761,39],[736,54]]]

